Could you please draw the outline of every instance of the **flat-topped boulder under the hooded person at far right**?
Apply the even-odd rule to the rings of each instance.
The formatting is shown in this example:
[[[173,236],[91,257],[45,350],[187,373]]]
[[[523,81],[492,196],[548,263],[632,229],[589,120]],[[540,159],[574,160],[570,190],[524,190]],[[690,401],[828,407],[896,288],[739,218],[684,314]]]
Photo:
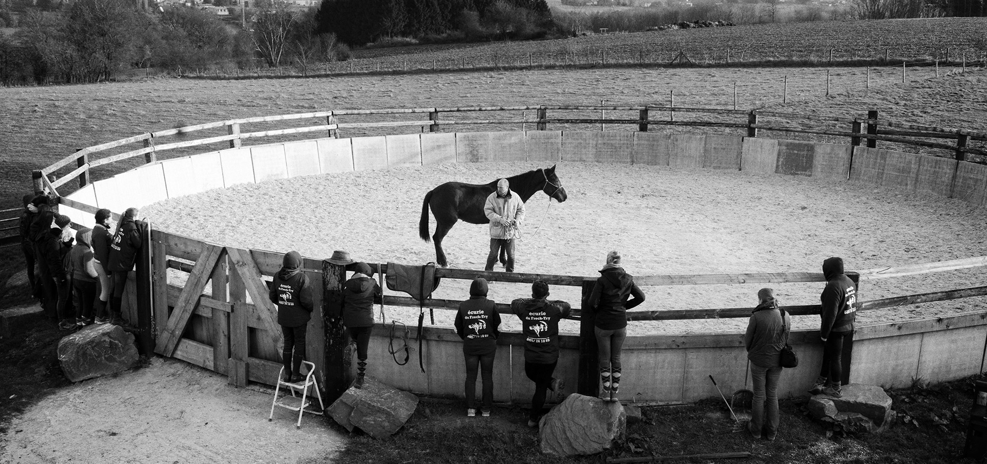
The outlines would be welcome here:
[[[841,393],[840,398],[814,395],[809,398],[806,409],[816,420],[835,422],[853,431],[885,431],[894,422],[891,397],[883,388],[851,383],[844,385]]]

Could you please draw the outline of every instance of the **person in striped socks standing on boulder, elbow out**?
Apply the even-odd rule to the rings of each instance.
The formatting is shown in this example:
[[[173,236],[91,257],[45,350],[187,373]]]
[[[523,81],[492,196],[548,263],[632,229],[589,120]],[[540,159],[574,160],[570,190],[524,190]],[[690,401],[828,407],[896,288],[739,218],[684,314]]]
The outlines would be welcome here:
[[[624,272],[620,253],[607,253],[607,263],[588,301],[600,362],[599,397],[604,401],[620,401],[617,394],[623,376],[620,355],[627,338],[627,310],[644,301],[645,293],[634,283],[634,277]]]

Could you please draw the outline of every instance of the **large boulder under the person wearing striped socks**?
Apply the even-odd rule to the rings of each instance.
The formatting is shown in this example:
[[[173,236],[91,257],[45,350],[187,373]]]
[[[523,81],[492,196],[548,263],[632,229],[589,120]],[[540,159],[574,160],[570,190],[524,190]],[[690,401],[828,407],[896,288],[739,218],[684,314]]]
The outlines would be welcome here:
[[[571,394],[542,418],[542,452],[561,456],[596,454],[609,449],[627,432],[627,414],[620,403]]]

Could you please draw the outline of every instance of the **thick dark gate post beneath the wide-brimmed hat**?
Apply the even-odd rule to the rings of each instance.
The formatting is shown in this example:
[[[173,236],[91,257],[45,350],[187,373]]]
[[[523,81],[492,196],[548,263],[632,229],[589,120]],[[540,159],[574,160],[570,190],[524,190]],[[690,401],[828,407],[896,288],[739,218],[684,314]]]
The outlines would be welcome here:
[[[322,262],[322,317],[326,330],[326,399],[329,404],[339,399],[350,383],[349,365],[345,363],[349,334],[342,326],[342,284],[346,281],[346,267]]]

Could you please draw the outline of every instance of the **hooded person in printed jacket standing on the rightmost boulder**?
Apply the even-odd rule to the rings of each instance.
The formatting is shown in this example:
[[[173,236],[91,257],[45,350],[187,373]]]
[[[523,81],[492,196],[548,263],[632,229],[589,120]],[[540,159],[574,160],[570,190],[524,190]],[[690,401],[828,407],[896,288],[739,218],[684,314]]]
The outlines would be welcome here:
[[[843,258],[826,258],[822,262],[822,275],[826,278],[826,287],[819,296],[822,301],[819,327],[823,342],[822,367],[809,392],[839,398],[843,396],[843,341],[854,332],[857,287],[844,274]]]

